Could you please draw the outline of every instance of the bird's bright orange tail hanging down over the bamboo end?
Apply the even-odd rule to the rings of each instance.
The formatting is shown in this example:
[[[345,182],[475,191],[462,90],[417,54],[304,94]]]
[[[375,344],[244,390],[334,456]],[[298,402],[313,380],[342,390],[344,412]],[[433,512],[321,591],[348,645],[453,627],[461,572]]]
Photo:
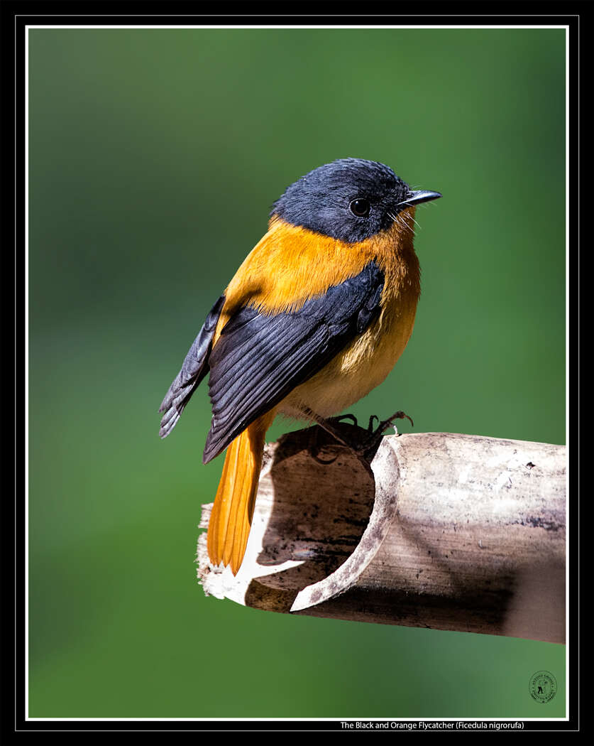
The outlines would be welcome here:
[[[244,558],[258,491],[266,430],[274,412],[254,421],[227,448],[221,481],[208,528],[208,553],[213,565],[231,565],[236,575]]]

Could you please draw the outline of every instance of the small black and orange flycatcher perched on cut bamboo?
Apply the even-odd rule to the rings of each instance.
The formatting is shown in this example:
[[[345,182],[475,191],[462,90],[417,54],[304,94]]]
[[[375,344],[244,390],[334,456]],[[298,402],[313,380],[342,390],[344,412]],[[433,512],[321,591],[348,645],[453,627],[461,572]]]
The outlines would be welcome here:
[[[384,163],[341,158],[274,202],[268,231],[212,306],[159,407],[165,438],[209,375],[203,463],[227,449],[207,532],[212,565],[233,575],[241,567],[276,416],[315,422],[344,443],[338,413],[391,372],[420,296],[415,210],[440,196],[411,189]],[[370,439],[397,416],[405,415]]]

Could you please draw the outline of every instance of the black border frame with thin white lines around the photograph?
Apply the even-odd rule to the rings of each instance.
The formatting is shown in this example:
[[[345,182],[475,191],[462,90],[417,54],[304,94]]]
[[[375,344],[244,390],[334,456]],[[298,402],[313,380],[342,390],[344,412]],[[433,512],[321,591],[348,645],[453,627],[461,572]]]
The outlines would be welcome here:
[[[221,4],[223,5],[223,4]],[[221,5],[215,7],[220,8]],[[22,554],[24,551],[24,532],[25,526],[25,501],[22,496],[25,494],[25,422],[24,422],[24,401],[25,401],[25,334],[24,319],[22,314],[24,301],[24,278],[25,278],[25,27],[27,25],[567,25],[569,27],[569,184],[571,188],[572,201],[569,204],[569,432],[571,436],[571,448],[569,451],[569,495],[570,501],[570,520],[569,532],[571,542],[569,545],[569,606],[571,608],[571,624],[569,636],[572,641],[569,651],[569,677],[571,681],[572,698],[569,700],[569,720],[568,721],[518,721],[522,722],[523,730],[554,732],[581,732],[581,730],[591,730],[590,727],[581,724],[580,707],[581,698],[581,675],[584,674],[584,668],[587,665],[580,665],[585,662],[585,654],[581,648],[582,641],[580,637],[581,630],[587,630],[587,624],[581,624],[586,621],[585,598],[587,595],[581,594],[584,584],[584,572],[581,571],[581,547],[586,540],[585,531],[590,525],[584,515],[584,508],[589,507],[580,501],[580,333],[581,333],[581,254],[580,254],[580,228],[581,228],[581,198],[583,192],[581,186],[581,169],[582,162],[592,163],[587,159],[587,154],[591,155],[590,134],[586,131],[584,142],[580,140],[580,116],[582,114],[580,101],[581,93],[586,90],[592,90],[591,61],[590,67],[584,65],[581,67],[581,47],[584,40],[588,42],[593,38],[593,24],[590,6],[587,2],[563,2],[554,3],[550,1],[540,2],[538,4],[526,3],[483,3],[470,4],[467,2],[458,2],[456,5],[457,12],[443,13],[444,10],[452,10],[451,3],[428,2],[423,3],[423,15],[408,14],[387,14],[387,8],[394,7],[392,4],[370,4],[365,7],[366,13],[357,13],[359,6],[354,9],[355,12],[349,13],[348,8],[353,4],[341,4],[335,6],[338,13],[317,14],[319,4],[300,4],[298,13],[294,14],[274,14],[268,12],[278,10],[277,3],[266,3],[267,10],[262,12],[245,15],[228,14],[211,14],[192,12],[200,10],[200,5],[192,2],[171,1],[167,4],[158,1],[148,1],[141,3],[134,2],[115,2],[104,0],[104,2],[75,2],[66,0],[63,2],[53,1],[12,1],[4,2],[0,6],[1,26],[0,26],[0,44],[2,60],[2,92],[4,94],[4,116],[0,117],[0,131],[4,135],[2,138],[4,145],[4,169],[2,177],[7,187],[4,190],[5,195],[14,194],[14,350],[15,350],[15,369],[14,369],[14,391],[15,391],[15,448],[14,448],[14,476],[15,476],[15,497],[13,505],[10,501],[4,499],[2,508],[4,512],[4,542],[2,548],[4,551],[4,568],[11,565],[15,568],[15,580],[13,589],[14,615],[13,623],[8,624],[8,615],[0,615],[2,638],[4,642],[4,697],[1,698],[1,732],[7,737],[7,743],[15,742],[21,734],[24,733],[43,733],[51,732],[75,732],[75,733],[171,733],[171,732],[216,732],[216,731],[328,731],[342,730],[341,721],[315,721],[315,720],[138,720],[138,721],[118,721],[115,719],[90,720],[90,721],[51,721],[51,720],[25,720],[25,583],[24,568],[22,567]],[[246,4],[247,6],[247,4]],[[212,8],[213,6],[210,6]],[[223,7],[226,7],[223,5]],[[250,8],[253,7],[250,5]],[[262,5],[261,5],[262,7]],[[327,6],[326,6],[327,7]],[[400,6],[398,6],[400,7]],[[409,5],[406,9],[417,9],[420,6]],[[481,13],[470,14],[468,10],[480,8]],[[305,10],[312,10],[312,15],[305,14]],[[334,9],[334,8],[332,8]],[[344,10],[347,9],[347,12]],[[507,15],[502,13],[503,10],[516,11],[522,10],[522,13],[513,13]],[[546,13],[531,13],[531,10],[543,10]],[[373,11],[376,11],[374,13]],[[152,12],[148,12],[152,11]],[[343,11],[341,13],[340,11]],[[589,32],[589,33],[588,33]],[[10,82],[9,82],[10,78]],[[590,84],[590,85],[588,85]],[[14,104],[14,128],[8,124],[6,114],[10,107],[7,106],[9,101],[9,92],[13,89]],[[589,125],[591,128],[591,124]],[[11,132],[11,130],[13,130]],[[587,142],[586,142],[587,140]],[[10,162],[10,152],[14,156],[13,183],[8,183],[8,167]],[[14,190],[14,191],[13,191]],[[578,198],[579,197],[579,198]],[[4,232],[10,231],[10,221],[8,219],[8,205],[10,200],[4,199],[2,202],[4,220],[2,227]],[[4,245],[8,244],[8,236]],[[7,314],[4,318],[7,318]],[[5,372],[6,366],[3,366]],[[5,452],[5,449],[4,449]],[[14,509],[14,512],[12,511]],[[14,527],[14,533],[10,530],[10,525]],[[9,532],[13,535],[10,536]],[[14,551],[11,551],[11,547]],[[10,552],[10,557],[9,557]],[[10,560],[10,561],[9,561]],[[7,599],[9,584],[6,583],[6,574],[4,574],[4,598]],[[580,599],[584,599],[584,604]],[[4,607],[6,609],[6,606]],[[13,627],[13,630],[10,629]],[[13,635],[11,634],[13,632]],[[14,668],[13,677],[8,680],[8,671],[10,666],[7,665],[11,645],[8,643],[9,638],[13,637],[14,644]],[[585,648],[585,645],[584,645]],[[7,652],[8,651],[8,652]],[[7,696],[13,692],[13,697]],[[491,719],[491,718],[489,718]],[[587,718],[589,720],[589,718]],[[372,721],[364,721],[372,722]],[[414,721],[399,721],[418,722]],[[442,722],[442,721],[437,721]],[[473,721],[467,721],[473,722]],[[477,723],[482,721],[477,719]],[[455,727],[454,729],[455,730]],[[477,728],[468,728],[467,730],[455,730],[457,733],[477,733]],[[485,729],[486,730],[486,729]],[[508,733],[512,729],[493,731],[490,733]],[[402,731],[398,731],[402,732]],[[414,732],[419,732],[414,731]]]

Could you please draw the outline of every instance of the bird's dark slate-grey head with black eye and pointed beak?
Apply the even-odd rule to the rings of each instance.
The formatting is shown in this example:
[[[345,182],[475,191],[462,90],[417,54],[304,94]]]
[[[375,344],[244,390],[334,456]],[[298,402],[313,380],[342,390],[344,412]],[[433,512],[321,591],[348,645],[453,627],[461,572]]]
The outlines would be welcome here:
[[[390,228],[409,205],[440,196],[439,192],[411,191],[383,163],[341,158],[288,186],[274,203],[271,216],[353,243]]]

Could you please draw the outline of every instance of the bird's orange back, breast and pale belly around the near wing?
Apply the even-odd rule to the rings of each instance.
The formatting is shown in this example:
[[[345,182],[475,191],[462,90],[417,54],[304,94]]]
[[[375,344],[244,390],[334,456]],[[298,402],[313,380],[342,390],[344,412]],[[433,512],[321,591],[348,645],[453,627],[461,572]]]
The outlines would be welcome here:
[[[309,298],[358,275],[375,261],[385,278],[381,311],[350,345],[320,372],[297,386],[278,411],[299,416],[303,406],[327,417],[349,407],[382,383],[411,336],[420,295],[420,269],[414,253],[414,207],[400,214],[388,231],[346,243],[273,218],[268,233],[248,254],[225,292],[215,332],[238,308],[264,314],[299,310]]]

